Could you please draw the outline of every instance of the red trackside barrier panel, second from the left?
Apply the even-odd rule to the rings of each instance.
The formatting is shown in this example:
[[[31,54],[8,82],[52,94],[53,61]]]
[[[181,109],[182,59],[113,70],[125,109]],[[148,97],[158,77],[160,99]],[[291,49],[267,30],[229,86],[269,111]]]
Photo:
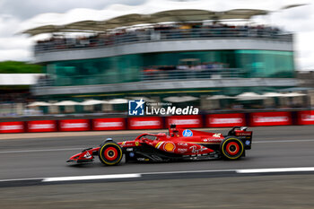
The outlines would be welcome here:
[[[56,120],[35,120],[27,122],[28,132],[54,132],[57,131]]]

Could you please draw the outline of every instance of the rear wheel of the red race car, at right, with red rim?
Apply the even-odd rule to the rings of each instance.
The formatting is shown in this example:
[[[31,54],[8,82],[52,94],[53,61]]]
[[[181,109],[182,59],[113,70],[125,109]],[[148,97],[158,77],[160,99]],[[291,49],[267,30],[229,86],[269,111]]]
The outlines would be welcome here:
[[[227,137],[221,144],[222,156],[227,160],[237,160],[244,152],[242,141],[234,136]]]

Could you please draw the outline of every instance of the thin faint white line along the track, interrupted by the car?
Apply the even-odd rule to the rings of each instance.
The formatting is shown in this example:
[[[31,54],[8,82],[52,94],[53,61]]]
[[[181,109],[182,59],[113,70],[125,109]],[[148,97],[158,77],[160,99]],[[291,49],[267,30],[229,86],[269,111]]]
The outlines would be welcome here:
[[[265,140],[265,141],[254,141],[252,144],[271,144],[271,143],[300,143],[300,142],[314,142],[314,139],[293,139],[293,140]],[[21,153],[21,152],[59,152],[59,151],[75,151],[83,150],[83,148],[65,148],[65,149],[47,149],[47,150],[15,150],[15,151],[2,151],[3,153]]]

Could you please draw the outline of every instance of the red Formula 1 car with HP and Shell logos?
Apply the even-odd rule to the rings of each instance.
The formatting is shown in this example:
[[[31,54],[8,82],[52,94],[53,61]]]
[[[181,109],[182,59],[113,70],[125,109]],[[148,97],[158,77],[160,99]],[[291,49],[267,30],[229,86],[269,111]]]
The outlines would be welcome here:
[[[106,165],[117,165],[123,155],[126,161],[237,160],[251,149],[251,143],[252,132],[247,127],[234,126],[228,135],[222,135],[171,125],[169,135],[142,134],[119,143],[107,139],[97,148],[75,154],[68,162],[93,161],[96,155]]]

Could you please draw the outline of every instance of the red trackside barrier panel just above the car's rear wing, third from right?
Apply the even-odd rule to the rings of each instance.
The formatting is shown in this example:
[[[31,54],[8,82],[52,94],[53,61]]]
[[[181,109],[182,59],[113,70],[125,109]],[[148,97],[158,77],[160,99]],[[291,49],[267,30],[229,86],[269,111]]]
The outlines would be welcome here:
[[[207,127],[246,126],[243,113],[211,114],[206,116]]]

